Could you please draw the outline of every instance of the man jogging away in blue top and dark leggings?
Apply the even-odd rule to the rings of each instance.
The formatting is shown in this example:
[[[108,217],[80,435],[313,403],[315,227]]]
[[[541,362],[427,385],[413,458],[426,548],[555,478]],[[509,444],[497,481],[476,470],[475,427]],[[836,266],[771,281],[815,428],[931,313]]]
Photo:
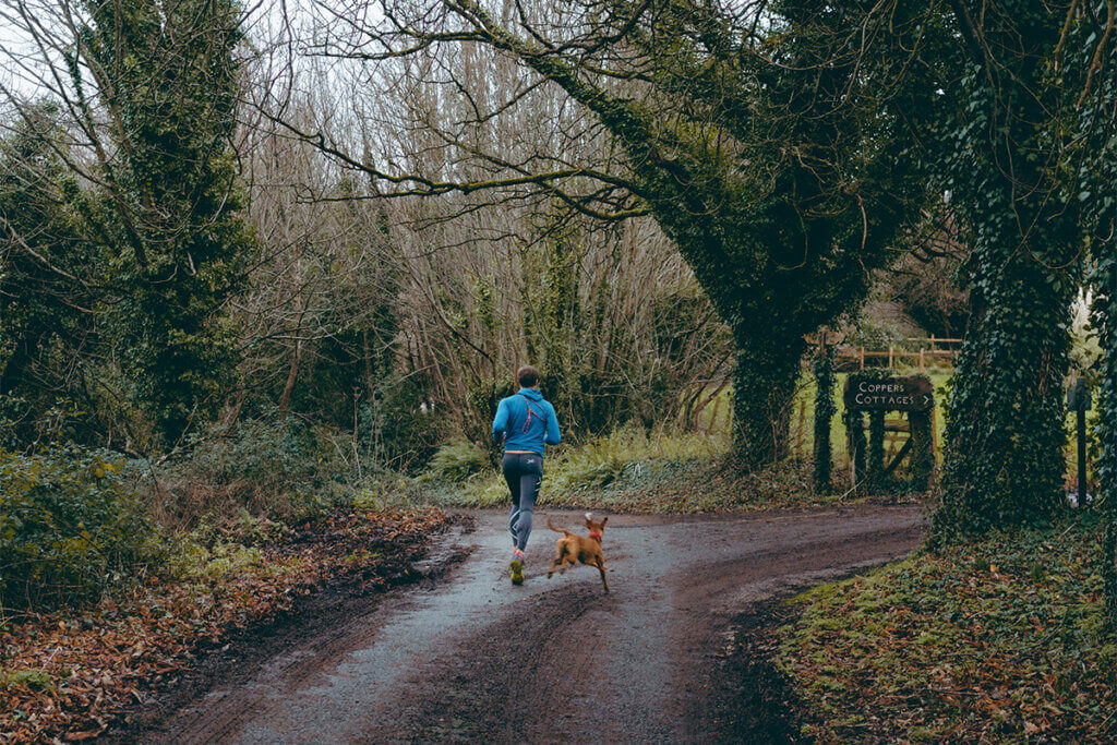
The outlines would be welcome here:
[[[504,480],[512,493],[512,582],[524,581],[524,548],[532,534],[532,513],[543,483],[543,451],[558,445],[555,409],[540,393],[540,371],[524,365],[516,372],[519,391],[500,401],[493,420],[493,439],[504,442]]]

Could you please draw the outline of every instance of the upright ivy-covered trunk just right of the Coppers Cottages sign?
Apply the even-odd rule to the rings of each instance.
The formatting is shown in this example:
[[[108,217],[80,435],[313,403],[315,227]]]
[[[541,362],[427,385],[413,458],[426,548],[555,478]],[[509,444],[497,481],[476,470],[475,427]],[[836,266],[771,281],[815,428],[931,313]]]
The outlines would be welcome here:
[[[946,534],[1040,524],[1059,507],[1081,264],[1080,200],[1050,168],[1062,147],[1053,117],[1069,94],[1047,55],[1065,13],[1040,3],[952,8],[970,59],[941,107],[934,176],[973,246],[973,315],[947,417],[935,519]]]

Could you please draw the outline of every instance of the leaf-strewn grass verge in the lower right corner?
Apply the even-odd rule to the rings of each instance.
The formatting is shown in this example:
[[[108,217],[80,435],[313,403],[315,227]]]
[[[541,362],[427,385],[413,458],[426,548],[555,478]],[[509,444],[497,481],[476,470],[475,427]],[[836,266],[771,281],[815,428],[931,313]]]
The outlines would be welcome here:
[[[1117,639],[1098,526],[996,535],[815,588],[777,662],[803,734],[837,742],[1113,742]]]

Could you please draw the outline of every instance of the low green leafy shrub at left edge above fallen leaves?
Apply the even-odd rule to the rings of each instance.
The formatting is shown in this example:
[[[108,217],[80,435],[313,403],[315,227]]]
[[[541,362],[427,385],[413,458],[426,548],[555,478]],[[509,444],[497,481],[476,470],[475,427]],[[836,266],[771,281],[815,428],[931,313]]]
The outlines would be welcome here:
[[[97,599],[165,548],[115,455],[0,451],[0,605]]]

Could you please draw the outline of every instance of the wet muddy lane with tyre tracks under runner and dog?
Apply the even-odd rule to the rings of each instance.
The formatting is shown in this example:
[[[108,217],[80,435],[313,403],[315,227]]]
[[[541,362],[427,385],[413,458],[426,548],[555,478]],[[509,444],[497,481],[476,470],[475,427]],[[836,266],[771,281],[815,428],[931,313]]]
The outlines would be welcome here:
[[[754,718],[726,694],[741,681],[720,679],[726,668],[715,663],[734,618],[790,588],[901,556],[922,525],[911,506],[615,516],[607,595],[589,567],[546,579],[556,536],[545,528],[532,536],[527,581],[510,585],[505,519],[479,513],[475,533],[447,538],[472,554],[440,582],[271,656],[146,739],[745,739]]]

